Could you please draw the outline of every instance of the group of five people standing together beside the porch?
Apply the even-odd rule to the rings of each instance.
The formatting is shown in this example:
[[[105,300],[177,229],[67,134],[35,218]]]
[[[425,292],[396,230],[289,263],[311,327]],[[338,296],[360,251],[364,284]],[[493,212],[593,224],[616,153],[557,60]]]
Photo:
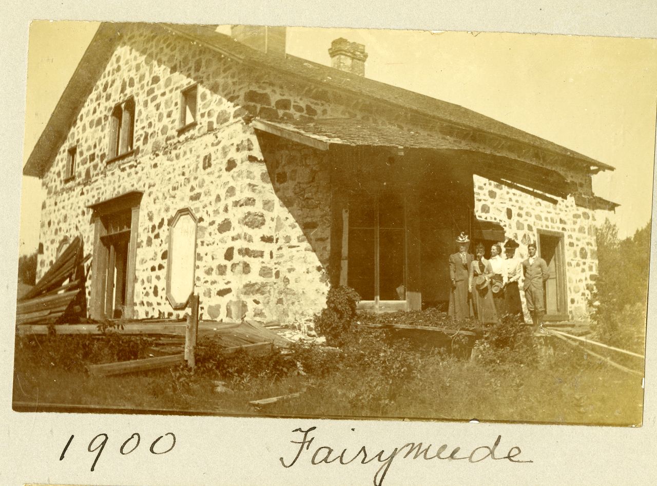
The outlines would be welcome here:
[[[536,254],[536,244],[527,246],[529,257],[524,261],[515,257],[520,246],[512,239],[504,244],[506,258],[502,258],[502,248],[493,244],[491,257],[484,258],[486,248],[478,244],[475,256],[468,253],[470,240],[463,232],[456,240],[458,252],[449,255],[449,315],[457,320],[476,317],[481,322],[495,323],[502,317],[510,316],[524,321],[522,301],[520,301],[520,279],[523,281],[525,302],[532,316],[534,330],[543,326],[545,303],[543,302],[543,282],[549,277],[547,263]]]

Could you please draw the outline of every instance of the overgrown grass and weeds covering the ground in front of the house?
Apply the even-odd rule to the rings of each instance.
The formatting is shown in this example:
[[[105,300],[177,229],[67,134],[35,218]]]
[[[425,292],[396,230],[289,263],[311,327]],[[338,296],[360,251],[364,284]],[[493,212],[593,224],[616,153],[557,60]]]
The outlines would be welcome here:
[[[492,349],[476,360],[416,351],[382,332],[357,333],[341,351],[294,347],[288,357],[200,353],[195,373],[178,366],[124,376],[88,376],[52,359],[57,338],[17,344],[14,401],[182,412],[639,425],[641,378],[554,343]],[[51,347],[49,347],[51,346]],[[70,349],[67,343],[66,349]],[[62,351],[63,352],[63,351]],[[92,360],[93,361],[93,360]],[[106,357],[103,361],[106,361]],[[299,372],[301,371],[301,372]],[[221,380],[232,393],[217,393]],[[249,401],[294,393],[257,411]]]

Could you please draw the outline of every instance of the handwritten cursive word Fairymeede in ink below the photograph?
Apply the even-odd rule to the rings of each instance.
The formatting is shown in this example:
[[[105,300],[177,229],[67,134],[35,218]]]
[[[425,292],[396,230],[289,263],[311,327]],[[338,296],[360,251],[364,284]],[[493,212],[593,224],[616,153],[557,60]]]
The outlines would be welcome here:
[[[279,458],[284,468],[291,468],[294,466],[294,464],[296,464],[297,460],[304,453],[304,451],[310,451],[310,445],[313,443],[313,440],[315,440],[315,437],[308,436],[312,431],[316,429],[317,427],[311,427],[307,430],[298,428],[292,431],[300,432],[304,434],[304,436],[300,441],[290,441],[292,444],[298,444],[298,449],[296,451],[296,455],[294,458],[292,458],[292,460],[288,462],[288,464],[286,464],[286,461],[283,459],[283,457]],[[374,474],[374,486],[381,486],[383,484],[383,480],[386,477],[386,474],[388,474],[388,470],[390,469],[392,461],[398,455],[404,459],[410,456],[413,459],[421,457],[424,458],[424,460],[446,459],[467,460],[468,462],[482,462],[482,460],[490,458],[491,460],[506,459],[510,462],[533,462],[532,460],[516,459],[520,453],[522,453],[520,447],[518,446],[511,447],[509,449],[509,453],[507,453],[505,456],[498,456],[499,453],[497,452],[497,447],[501,441],[502,436],[498,435],[492,447],[482,445],[472,449],[470,454],[463,453],[461,451],[461,447],[454,447],[451,452],[447,454],[449,446],[446,444],[443,444],[440,447],[436,447],[434,449],[432,444],[429,444],[425,447],[422,442],[409,442],[401,447],[396,447],[390,453],[386,453],[386,451],[381,450],[374,455],[369,454],[367,452],[367,448],[364,445],[355,454],[353,452],[348,453],[347,449],[343,449],[342,452],[338,454],[335,452],[334,448],[328,447],[327,445],[322,445],[321,447],[317,447],[317,449],[315,449],[315,453],[310,458],[310,463],[313,464],[313,466],[316,466],[317,464],[322,464],[323,462],[326,464],[331,464],[332,462],[338,461],[339,464],[344,465],[350,464],[351,462],[360,458],[361,464],[369,464],[370,462],[376,460],[377,462],[381,463],[381,466]]]

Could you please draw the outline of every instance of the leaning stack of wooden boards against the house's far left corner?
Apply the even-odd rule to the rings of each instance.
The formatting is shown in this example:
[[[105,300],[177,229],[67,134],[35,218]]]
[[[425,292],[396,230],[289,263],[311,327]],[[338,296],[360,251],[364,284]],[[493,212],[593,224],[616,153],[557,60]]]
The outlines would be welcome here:
[[[32,289],[16,302],[16,324],[52,325],[62,320],[75,321],[87,313],[85,298],[83,242],[79,236],[41,277]]]

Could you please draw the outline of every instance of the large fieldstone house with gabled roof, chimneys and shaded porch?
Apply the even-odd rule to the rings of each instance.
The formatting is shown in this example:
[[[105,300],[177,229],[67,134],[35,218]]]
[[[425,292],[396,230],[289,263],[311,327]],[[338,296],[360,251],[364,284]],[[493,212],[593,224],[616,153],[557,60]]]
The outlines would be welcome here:
[[[536,240],[548,318],[585,316],[591,175],[613,169],[476,112],[285,52],[285,28],[101,24],[24,175],[41,178],[37,277],[78,234],[91,317],[179,317],[169,227],[196,219],[203,319],[301,323],[331,284],[377,311],[442,305],[459,232]],[[329,46],[327,46],[328,48]]]

